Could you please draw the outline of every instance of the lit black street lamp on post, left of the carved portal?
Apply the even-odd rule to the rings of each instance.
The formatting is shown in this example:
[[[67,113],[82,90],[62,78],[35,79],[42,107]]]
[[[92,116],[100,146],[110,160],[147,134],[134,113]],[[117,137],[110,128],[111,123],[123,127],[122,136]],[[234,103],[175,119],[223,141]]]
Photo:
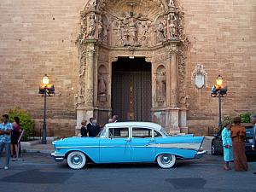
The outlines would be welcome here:
[[[42,144],[46,144],[46,96],[55,96],[55,86],[53,84],[49,84],[49,77],[47,74],[44,75],[42,79],[42,83],[39,87],[39,94],[44,96],[44,122],[43,122],[43,137]]]

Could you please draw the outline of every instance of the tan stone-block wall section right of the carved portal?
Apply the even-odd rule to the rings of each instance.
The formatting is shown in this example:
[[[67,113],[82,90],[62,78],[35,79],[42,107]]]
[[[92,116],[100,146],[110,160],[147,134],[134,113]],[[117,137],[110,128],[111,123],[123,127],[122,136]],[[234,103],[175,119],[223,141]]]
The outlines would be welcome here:
[[[180,0],[190,44],[187,88],[189,131],[218,126],[218,98],[210,91],[218,74],[228,85],[223,115],[256,112],[256,2]],[[207,72],[207,87],[191,84],[196,64]],[[207,132],[207,131],[204,131]]]

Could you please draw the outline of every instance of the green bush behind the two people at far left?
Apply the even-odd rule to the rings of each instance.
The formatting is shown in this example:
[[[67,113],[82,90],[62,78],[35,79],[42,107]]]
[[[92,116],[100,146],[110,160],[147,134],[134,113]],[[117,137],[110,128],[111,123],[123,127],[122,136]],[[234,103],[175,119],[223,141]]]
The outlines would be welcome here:
[[[25,110],[21,108],[9,109],[9,121],[13,122],[14,117],[20,118],[20,127],[22,130],[25,130],[25,135],[22,140],[26,141],[28,137],[32,137],[34,130],[34,121],[32,120],[31,114],[27,113]]]

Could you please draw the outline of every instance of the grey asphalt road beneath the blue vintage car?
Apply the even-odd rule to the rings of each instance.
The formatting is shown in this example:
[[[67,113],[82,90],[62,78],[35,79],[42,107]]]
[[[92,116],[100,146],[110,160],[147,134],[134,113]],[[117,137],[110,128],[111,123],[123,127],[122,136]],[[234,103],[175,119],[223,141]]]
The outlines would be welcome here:
[[[222,157],[205,155],[200,160],[179,160],[172,169],[156,164],[88,165],[71,170],[55,163],[49,154],[27,153],[12,161],[9,170],[0,162],[3,192],[256,192],[256,162],[248,172],[222,169]]]

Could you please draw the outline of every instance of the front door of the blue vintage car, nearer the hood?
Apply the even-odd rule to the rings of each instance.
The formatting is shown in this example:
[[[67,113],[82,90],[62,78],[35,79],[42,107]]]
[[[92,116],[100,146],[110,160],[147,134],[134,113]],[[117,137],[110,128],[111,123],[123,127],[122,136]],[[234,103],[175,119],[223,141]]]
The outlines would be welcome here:
[[[100,141],[100,162],[118,163],[131,161],[129,127],[108,128],[108,137]]]

